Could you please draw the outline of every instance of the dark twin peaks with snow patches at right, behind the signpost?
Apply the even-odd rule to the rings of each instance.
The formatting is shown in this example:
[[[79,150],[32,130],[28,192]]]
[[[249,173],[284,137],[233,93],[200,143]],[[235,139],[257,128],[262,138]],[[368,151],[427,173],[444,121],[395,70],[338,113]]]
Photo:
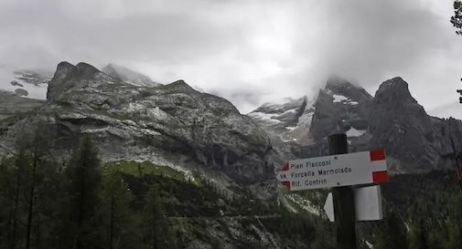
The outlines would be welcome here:
[[[312,113],[310,121],[302,126],[306,132],[303,140],[291,132],[285,134],[283,142],[272,137],[274,145],[290,148],[297,158],[328,154],[327,136],[336,132],[347,134],[350,151],[385,149],[390,168],[395,172],[452,167],[447,160],[452,153],[450,138],[456,140],[457,150],[462,148],[457,140],[462,122],[429,116],[412,97],[403,78],[383,82],[374,97],[345,79],[329,78],[326,87],[319,90],[311,103],[304,106],[300,101],[289,101],[281,105],[291,106],[297,113],[306,110]],[[274,109],[265,107],[274,105],[265,104],[249,114],[264,130],[269,133],[280,132],[281,127],[300,130],[300,126],[292,128],[292,120],[269,125],[263,117],[274,113]],[[285,120],[278,115],[271,119]]]

